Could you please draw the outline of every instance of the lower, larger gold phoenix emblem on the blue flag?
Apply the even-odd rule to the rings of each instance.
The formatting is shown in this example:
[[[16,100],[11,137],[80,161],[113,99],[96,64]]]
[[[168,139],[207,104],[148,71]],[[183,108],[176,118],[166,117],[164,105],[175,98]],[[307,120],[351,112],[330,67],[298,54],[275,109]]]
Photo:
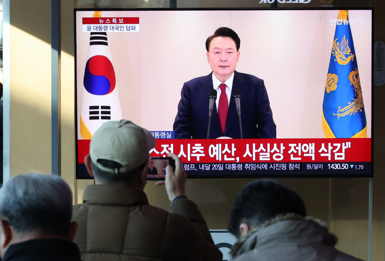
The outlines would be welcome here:
[[[346,115],[354,115],[356,112],[361,111],[363,108],[363,97],[361,90],[360,75],[358,75],[358,69],[351,71],[349,73],[350,85],[353,85],[353,90],[355,91],[354,97],[352,98],[353,102],[348,102],[348,106],[345,106],[341,109],[341,106],[338,106],[337,113],[333,113],[334,116],[337,116],[339,120],[340,117]]]

